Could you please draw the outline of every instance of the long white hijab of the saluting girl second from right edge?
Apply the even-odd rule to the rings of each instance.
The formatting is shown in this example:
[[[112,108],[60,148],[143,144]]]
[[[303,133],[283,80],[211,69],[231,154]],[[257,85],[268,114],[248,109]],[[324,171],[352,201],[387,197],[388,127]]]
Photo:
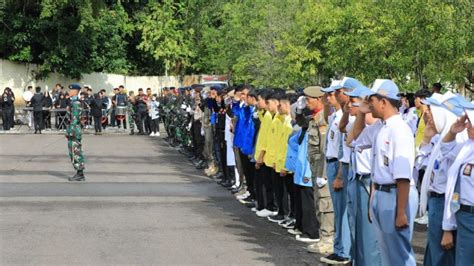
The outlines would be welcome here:
[[[439,132],[440,136],[438,141],[434,144],[425,174],[423,175],[423,182],[421,183],[420,190],[420,215],[424,215],[426,213],[426,206],[428,204],[428,189],[431,183],[431,173],[433,171],[436,159],[438,159],[438,157],[441,155],[441,142],[443,141],[444,136],[448,134],[451,125],[454,124],[457,119],[456,115],[444,109],[443,107],[430,105],[430,110],[436,131]],[[456,139],[458,139],[458,141],[466,140],[466,131],[458,134]]]

